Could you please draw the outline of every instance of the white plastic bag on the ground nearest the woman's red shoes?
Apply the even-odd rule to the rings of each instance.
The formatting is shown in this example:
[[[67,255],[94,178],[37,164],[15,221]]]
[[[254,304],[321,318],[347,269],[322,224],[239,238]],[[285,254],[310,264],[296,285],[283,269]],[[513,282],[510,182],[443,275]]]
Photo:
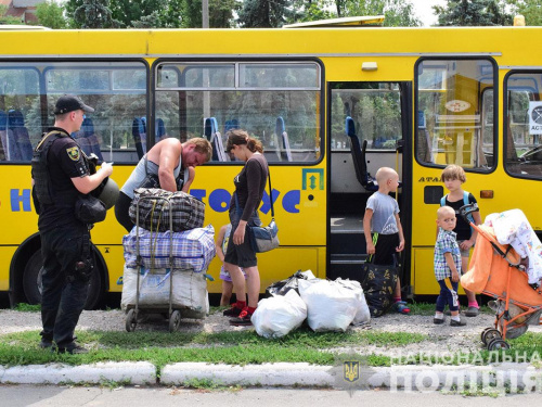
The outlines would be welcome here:
[[[256,332],[263,338],[281,338],[297,329],[307,318],[307,305],[294,291],[263,298],[250,318]]]

